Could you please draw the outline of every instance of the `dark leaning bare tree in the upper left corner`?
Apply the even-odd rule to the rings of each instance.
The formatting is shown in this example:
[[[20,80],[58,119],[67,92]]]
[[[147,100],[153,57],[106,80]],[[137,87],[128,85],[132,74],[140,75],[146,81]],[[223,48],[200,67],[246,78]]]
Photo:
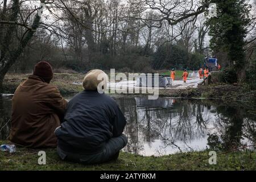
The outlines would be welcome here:
[[[41,0],[40,2],[44,3],[45,0]],[[40,24],[41,16],[37,13],[33,14],[33,12],[39,9],[33,10],[25,20],[23,19],[22,15],[20,15],[20,6],[22,3],[24,3],[24,1],[20,2],[19,0],[13,0],[10,9],[7,10],[5,1],[1,13],[1,17],[3,17],[4,20],[1,19],[0,23],[8,25],[8,27],[4,28],[3,32],[1,32],[0,88],[2,88],[3,78],[6,73],[23,52],[23,49],[27,46]],[[33,17],[33,21],[31,26],[28,26],[27,20],[28,18],[31,18],[31,16]],[[20,19],[22,20],[22,23],[19,22]],[[26,31],[24,31],[23,36],[19,41],[15,39],[16,26],[26,28]]]

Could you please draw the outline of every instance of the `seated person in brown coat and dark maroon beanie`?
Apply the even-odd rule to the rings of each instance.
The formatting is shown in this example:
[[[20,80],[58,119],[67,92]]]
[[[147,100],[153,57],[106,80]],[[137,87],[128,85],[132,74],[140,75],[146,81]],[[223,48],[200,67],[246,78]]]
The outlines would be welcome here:
[[[18,86],[13,97],[10,141],[30,148],[55,147],[54,131],[64,117],[67,101],[52,80],[52,67],[46,61],[35,65],[33,75]]]

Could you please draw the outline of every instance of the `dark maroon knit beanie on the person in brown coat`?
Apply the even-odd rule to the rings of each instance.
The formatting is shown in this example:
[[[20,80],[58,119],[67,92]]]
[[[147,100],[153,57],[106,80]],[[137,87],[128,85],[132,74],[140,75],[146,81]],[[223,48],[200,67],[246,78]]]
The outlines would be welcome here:
[[[50,82],[53,77],[52,66],[47,61],[40,61],[35,65],[33,75],[43,78],[44,81]]]

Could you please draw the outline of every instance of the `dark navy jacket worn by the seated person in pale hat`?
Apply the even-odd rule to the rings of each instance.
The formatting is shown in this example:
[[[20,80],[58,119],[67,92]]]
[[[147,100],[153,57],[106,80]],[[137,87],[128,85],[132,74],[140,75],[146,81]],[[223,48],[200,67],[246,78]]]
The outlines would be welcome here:
[[[125,125],[126,119],[111,97],[83,91],[69,101],[56,135],[65,151],[95,154],[110,138],[119,137]]]

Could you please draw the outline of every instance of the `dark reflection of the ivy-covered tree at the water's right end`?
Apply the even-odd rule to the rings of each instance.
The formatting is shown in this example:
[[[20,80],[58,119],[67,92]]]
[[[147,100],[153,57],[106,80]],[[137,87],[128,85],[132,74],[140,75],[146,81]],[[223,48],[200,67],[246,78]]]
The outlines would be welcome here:
[[[255,144],[255,115],[248,111],[252,105],[228,103],[217,106],[217,133],[210,135],[210,147],[232,150],[246,146],[247,142]]]

